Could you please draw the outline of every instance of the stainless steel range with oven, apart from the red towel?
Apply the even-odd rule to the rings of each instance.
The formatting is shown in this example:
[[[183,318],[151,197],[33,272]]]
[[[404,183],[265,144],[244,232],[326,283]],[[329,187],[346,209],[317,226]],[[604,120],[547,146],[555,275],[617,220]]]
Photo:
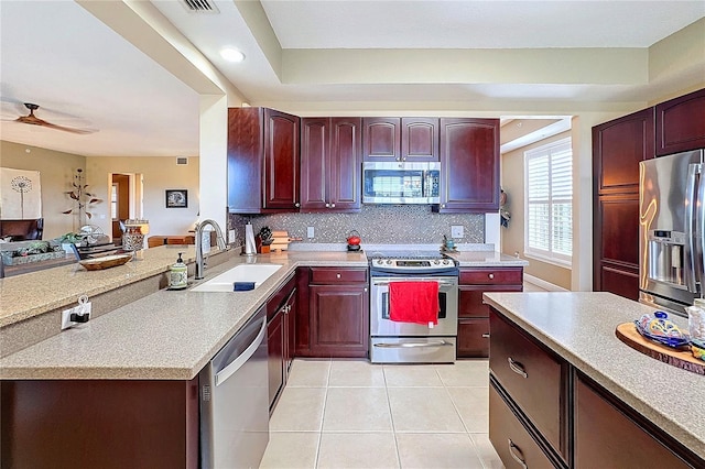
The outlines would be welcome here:
[[[458,268],[438,251],[371,251],[370,361],[451,363],[458,328]],[[437,325],[390,319],[392,282],[436,282]]]

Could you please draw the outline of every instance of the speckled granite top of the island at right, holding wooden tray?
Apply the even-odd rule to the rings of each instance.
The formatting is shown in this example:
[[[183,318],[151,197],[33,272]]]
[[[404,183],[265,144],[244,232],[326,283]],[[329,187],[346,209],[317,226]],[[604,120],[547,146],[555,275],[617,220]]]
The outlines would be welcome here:
[[[485,301],[638,413],[705,458],[705,377],[650,358],[615,335],[653,308],[610,293],[486,293]],[[670,315],[679,326],[687,321]]]

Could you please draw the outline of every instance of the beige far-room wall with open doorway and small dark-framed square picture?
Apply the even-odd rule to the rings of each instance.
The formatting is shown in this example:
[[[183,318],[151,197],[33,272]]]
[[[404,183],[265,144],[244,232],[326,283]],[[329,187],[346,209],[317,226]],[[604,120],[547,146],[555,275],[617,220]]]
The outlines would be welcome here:
[[[199,159],[188,157],[187,165],[176,165],[176,157],[87,157],[86,172],[88,184],[98,197],[108,200],[108,185],[111,173],[142,175],[142,210],[131,216],[142,216],[150,220],[150,234],[187,234],[194,229],[199,209]],[[188,207],[166,208],[164,190],[187,189]],[[140,200],[135,201],[140,206]],[[94,211],[97,217],[91,221],[111,232],[110,205],[101,204]]]

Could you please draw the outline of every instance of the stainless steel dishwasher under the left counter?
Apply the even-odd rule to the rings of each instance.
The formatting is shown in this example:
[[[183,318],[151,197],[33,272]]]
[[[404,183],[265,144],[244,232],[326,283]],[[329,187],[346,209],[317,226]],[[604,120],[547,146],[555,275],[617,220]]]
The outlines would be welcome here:
[[[198,380],[200,467],[258,468],[269,441],[264,307],[216,353]]]

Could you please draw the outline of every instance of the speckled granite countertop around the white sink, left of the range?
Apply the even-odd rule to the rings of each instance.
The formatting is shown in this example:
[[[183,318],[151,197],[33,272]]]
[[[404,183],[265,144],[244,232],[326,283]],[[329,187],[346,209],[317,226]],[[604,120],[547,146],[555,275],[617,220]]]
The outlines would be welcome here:
[[[0,359],[0,379],[189,380],[297,266],[368,265],[365,253],[232,255],[193,286],[252,261],[282,268],[249,292],[161,290]]]

